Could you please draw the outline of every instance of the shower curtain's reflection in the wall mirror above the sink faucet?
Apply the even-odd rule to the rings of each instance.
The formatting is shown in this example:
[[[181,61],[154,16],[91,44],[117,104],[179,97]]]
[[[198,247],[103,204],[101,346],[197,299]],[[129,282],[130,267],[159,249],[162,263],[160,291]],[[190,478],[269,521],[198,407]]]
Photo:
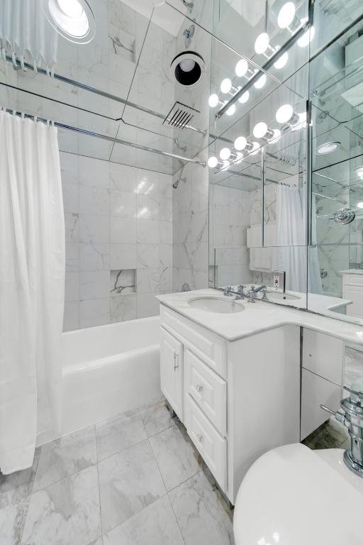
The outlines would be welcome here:
[[[306,292],[306,224],[298,187],[277,187],[277,268],[286,272],[286,290]]]

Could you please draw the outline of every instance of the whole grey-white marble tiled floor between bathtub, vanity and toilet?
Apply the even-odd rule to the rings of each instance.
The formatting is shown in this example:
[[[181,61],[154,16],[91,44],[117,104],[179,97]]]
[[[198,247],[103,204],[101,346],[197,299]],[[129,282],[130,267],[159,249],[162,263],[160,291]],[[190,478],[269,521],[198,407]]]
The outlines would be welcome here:
[[[1,545],[228,545],[232,512],[164,400],[0,474]]]

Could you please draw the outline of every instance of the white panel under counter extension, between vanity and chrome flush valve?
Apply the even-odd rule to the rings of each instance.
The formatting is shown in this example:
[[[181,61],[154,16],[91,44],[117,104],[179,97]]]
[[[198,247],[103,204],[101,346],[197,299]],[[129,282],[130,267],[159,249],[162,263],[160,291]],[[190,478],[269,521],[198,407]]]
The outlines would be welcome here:
[[[311,329],[303,329],[301,371],[301,440],[328,420],[320,409],[340,408],[344,362],[344,341]]]

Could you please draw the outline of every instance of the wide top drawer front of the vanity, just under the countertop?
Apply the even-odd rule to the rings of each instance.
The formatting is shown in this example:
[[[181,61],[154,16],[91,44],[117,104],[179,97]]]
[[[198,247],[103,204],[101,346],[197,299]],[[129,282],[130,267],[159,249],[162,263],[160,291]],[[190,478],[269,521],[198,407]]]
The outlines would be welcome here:
[[[218,375],[223,378],[226,377],[227,360],[223,338],[198,324],[194,324],[194,322],[168,309],[163,304],[160,306],[160,317],[162,326],[165,329],[179,338],[185,346],[189,346]]]

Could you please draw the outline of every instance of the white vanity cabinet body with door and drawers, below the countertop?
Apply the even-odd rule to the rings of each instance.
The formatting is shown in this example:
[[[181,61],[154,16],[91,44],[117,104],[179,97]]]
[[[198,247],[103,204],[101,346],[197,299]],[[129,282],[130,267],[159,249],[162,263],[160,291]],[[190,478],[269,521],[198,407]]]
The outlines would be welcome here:
[[[228,342],[164,304],[160,317],[162,392],[234,504],[262,453],[299,440],[300,330]]]

